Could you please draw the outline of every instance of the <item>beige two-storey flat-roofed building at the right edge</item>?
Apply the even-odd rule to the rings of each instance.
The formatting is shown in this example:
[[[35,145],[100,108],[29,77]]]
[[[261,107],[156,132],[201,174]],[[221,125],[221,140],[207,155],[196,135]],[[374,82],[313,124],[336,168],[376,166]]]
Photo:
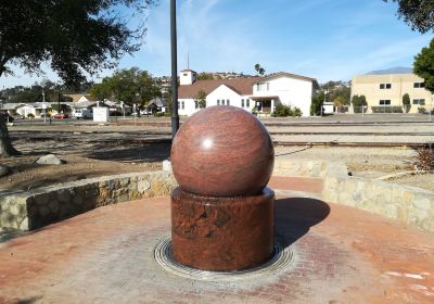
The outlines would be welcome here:
[[[432,110],[432,94],[424,89],[423,79],[414,74],[358,75],[353,77],[353,96],[365,96],[368,103],[366,113],[386,112],[384,109],[403,106],[403,96],[410,96],[409,113],[419,107]],[[396,107],[395,107],[396,110]],[[423,111],[421,109],[421,111]]]

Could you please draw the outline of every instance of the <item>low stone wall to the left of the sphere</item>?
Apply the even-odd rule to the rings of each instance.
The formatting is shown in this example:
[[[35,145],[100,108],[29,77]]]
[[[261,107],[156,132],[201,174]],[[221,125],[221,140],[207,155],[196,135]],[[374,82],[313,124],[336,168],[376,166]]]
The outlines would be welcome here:
[[[82,179],[0,195],[0,227],[30,230],[89,210],[125,201],[168,195],[176,187],[166,172]]]

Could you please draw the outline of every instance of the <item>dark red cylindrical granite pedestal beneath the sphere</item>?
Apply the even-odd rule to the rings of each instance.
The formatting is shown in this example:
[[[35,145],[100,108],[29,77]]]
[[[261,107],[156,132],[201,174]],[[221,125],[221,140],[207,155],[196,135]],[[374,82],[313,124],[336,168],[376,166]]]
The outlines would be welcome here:
[[[275,192],[200,197],[171,193],[171,242],[176,261],[192,268],[233,271],[253,268],[273,251]]]

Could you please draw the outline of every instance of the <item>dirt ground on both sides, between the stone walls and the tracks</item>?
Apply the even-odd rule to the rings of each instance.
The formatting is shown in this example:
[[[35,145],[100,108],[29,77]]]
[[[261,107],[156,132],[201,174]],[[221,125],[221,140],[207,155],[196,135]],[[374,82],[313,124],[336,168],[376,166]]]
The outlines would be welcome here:
[[[12,174],[0,178],[0,191],[28,190],[60,182],[142,170],[158,170],[169,157],[170,143],[135,143],[119,140],[14,140],[23,156],[0,160]],[[35,161],[53,153],[66,161],[60,166],[41,166]],[[354,176],[379,178],[414,168],[412,149],[276,147],[277,157],[321,159],[344,162]],[[409,175],[388,180],[434,190],[434,175]]]

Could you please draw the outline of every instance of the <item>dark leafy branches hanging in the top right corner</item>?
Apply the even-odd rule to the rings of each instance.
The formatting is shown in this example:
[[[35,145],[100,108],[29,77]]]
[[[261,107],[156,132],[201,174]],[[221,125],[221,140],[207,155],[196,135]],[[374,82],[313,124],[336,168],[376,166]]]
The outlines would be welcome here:
[[[383,0],[398,3],[398,17],[422,34],[434,28],[434,1],[426,0]]]

